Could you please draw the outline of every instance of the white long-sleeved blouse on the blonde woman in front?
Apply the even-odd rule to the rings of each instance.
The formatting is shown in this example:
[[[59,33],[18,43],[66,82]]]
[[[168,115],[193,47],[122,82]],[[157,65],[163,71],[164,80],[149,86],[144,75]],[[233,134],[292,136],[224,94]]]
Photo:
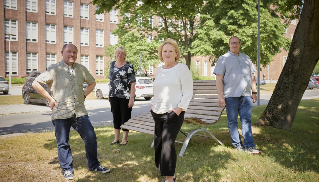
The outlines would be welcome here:
[[[154,113],[167,113],[176,107],[186,111],[193,96],[193,78],[187,65],[177,63],[169,69],[160,66],[153,83],[153,94]]]

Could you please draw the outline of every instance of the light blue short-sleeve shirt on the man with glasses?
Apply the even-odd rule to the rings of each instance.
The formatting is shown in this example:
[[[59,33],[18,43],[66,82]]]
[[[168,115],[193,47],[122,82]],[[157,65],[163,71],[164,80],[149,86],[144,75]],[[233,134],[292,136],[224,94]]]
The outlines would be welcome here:
[[[223,95],[227,97],[250,96],[251,74],[256,71],[248,55],[237,56],[228,52],[217,60],[214,74],[223,75]]]

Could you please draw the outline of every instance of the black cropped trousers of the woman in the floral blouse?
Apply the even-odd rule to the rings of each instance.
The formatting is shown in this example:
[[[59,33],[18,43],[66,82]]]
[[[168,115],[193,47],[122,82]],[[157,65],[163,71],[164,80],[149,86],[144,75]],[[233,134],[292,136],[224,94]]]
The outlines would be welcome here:
[[[121,129],[122,124],[131,119],[132,107],[129,108],[129,99],[110,97],[111,112],[115,129]],[[130,131],[123,129],[122,131]]]

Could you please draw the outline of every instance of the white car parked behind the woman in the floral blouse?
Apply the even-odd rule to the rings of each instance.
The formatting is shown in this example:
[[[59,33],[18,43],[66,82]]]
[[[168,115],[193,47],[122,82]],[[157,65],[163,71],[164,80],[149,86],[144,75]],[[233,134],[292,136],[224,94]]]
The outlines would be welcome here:
[[[98,99],[108,97],[109,84],[96,84],[94,91]],[[149,77],[136,76],[135,85],[136,98],[144,97],[145,100],[150,100],[153,95],[153,80]]]

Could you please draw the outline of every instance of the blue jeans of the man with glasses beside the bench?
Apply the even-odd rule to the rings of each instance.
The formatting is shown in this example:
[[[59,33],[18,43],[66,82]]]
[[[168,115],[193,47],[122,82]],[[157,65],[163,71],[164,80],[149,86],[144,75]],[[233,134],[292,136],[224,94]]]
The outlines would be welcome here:
[[[244,147],[255,147],[251,133],[251,114],[253,112],[253,102],[249,96],[225,98],[228,130],[234,147],[242,145],[238,132],[237,117],[239,114],[241,122],[241,132],[244,138]]]

